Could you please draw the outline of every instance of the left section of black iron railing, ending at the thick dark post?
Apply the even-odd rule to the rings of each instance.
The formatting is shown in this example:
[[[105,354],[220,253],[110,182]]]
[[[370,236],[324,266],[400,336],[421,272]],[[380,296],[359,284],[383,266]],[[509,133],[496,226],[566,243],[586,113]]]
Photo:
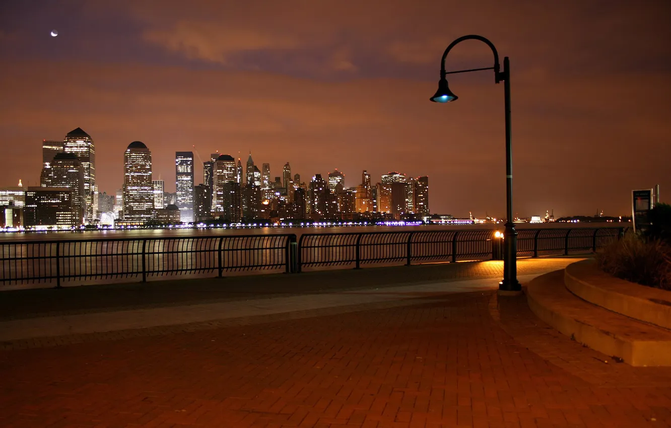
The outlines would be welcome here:
[[[0,242],[2,282],[142,278],[271,270],[290,272],[296,235],[72,239]],[[295,246],[294,246],[295,247]]]

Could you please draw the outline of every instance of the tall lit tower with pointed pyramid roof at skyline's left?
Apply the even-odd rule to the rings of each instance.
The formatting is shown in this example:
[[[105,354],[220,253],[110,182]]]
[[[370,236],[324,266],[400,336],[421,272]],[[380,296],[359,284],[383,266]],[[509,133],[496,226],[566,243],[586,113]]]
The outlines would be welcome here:
[[[72,129],[63,140],[63,151],[72,153],[79,162],[82,163],[84,172],[84,199],[86,203],[86,212],[84,213],[84,222],[93,223],[95,220],[95,146],[91,136],[81,128]]]

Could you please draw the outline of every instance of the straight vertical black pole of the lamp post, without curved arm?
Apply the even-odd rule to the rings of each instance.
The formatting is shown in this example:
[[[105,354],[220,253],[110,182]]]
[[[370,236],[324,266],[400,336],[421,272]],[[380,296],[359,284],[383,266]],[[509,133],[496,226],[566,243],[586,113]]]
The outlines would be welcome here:
[[[503,280],[499,282],[501,291],[520,291],[517,282],[517,231],[513,223],[513,134],[510,119],[510,61],[503,58],[503,91],[505,96],[505,176],[506,214],[503,232]]]

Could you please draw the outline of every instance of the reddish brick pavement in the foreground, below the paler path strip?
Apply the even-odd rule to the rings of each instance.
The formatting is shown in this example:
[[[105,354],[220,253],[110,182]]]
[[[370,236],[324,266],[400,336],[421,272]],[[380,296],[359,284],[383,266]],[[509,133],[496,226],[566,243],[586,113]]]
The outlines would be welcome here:
[[[0,426],[671,426],[668,369],[596,370],[493,291],[429,297],[0,351]]]

